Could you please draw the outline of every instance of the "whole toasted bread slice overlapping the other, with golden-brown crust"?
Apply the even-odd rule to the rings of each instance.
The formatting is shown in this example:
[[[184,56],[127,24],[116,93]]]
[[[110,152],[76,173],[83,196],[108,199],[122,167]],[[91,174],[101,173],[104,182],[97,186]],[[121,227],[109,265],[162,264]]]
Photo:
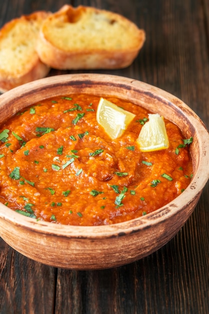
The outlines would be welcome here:
[[[55,69],[117,69],[130,65],[145,32],[121,15],[65,5],[42,25],[40,59]]]

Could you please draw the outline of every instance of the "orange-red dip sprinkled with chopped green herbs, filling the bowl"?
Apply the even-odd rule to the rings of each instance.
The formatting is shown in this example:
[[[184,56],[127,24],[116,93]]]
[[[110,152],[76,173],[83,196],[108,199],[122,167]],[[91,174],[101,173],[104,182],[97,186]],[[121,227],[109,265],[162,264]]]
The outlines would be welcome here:
[[[188,186],[192,164],[179,128],[165,119],[169,147],[141,152],[146,109],[112,140],[96,121],[100,97],[68,95],[25,108],[0,129],[0,201],[20,214],[66,225],[106,225],[143,216]]]

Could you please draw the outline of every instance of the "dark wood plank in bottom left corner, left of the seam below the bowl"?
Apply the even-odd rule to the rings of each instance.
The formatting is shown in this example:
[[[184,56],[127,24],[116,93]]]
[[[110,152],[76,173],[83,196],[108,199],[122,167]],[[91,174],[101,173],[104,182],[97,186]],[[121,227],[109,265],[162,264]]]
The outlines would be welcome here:
[[[1,314],[53,313],[55,283],[55,268],[26,258],[0,238]]]

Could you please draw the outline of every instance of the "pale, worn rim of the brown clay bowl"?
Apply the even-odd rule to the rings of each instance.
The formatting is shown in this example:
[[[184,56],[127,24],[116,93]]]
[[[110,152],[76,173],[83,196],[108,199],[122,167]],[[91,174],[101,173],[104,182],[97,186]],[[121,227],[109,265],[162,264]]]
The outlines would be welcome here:
[[[209,142],[209,133],[201,121],[201,119],[196,115],[196,113],[186,105],[182,100],[164,91],[158,87],[152,86],[150,84],[141,82],[136,79],[127,78],[118,75],[110,74],[64,74],[50,76],[44,79],[40,79],[34,82],[30,82],[19,87],[16,87],[0,96],[0,108],[4,103],[10,102],[14,95],[18,94],[21,98],[21,94],[36,93],[36,90],[40,89],[42,86],[47,86],[50,88],[57,87],[59,84],[70,84],[70,82],[81,82],[88,81],[92,83],[93,80],[99,80],[101,83],[119,84],[121,87],[123,84],[128,84],[130,87],[146,91],[150,95],[154,95],[163,102],[172,103],[173,107],[177,107],[179,111],[185,115],[187,114],[187,119],[195,126],[198,123],[198,132],[201,133],[204,140],[199,139],[199,163],[197,166],[197,172],[193,176],[188,187],[183,191],[183,193],[177,196],[173,201],[169,202],[165,206],[149,213],[145,216],[138,217],[126,222],[111,224],[111,225],[100,225],[100,226],[72,226],[72,225],[61,225],[52,222],[45,222],[42,220],[35,220],[33,218],[26,217],[16,213],[14,210],[8,208],[3,203],[0,203],[0,219],[3,219],[15,226],[30,229],[34,232],[39,232],[42,234],[53,234],[56,236],[64,236],[67,238],[107,238],[113,236],[123,236],[133,232],[139,232],[141,229],[146,229],[162,221],[162,219],[169,219],[171,216],[178,214],[182,211],[188,204],[190,204],[197,196],[200,196],[201,191],[209,178],[209,151],[206,150],[206,143]],[[59,95],[59,93],[57,94]],[[23,97],[23,96],[22,96]],[[51,96],[49,96],[51,97]],[[119,96],[118,96],[119,97]],[[48,98],[48,97],[47,97]],[[120,97],[119,97],[120,98]],[[36,102],[36,101],[33,101]],[[2,105],[3,104],[3,105]],[[18,110],[17,110],[18,111]],[[14,111],[14,114],[16,111]],[[172,121],[172,119],[171,119]],[[204,177],[200,178],[198,176],[198,171],[204,173]],[[191,197],[192,195],[192,197]],[[182,202],[183,201],[183,202]],[[182,204],[185,204],[182,206]],[[0,231],[1,234],[1,231]]]

